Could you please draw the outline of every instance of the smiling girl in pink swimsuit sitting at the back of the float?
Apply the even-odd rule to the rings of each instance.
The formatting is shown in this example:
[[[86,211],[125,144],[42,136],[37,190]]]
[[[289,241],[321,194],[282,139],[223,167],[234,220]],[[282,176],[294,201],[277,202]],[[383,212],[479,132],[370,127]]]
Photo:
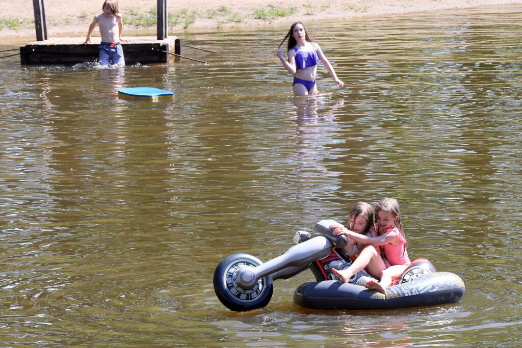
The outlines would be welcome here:
[[[371,290],[386,293],[394,279],[397,279],[410,265],[408,248],[402,224],[400,222],[399,203],[394,198],[384,198],[375,206],[376,237],[363,236],[335,226],[334,234],[344,234],[351,244],[361,243],[366,246],[359,257],[345,270],[332,271],[348,283],[353,274],[363,268],[380,281],[370,281],[364,286]]]

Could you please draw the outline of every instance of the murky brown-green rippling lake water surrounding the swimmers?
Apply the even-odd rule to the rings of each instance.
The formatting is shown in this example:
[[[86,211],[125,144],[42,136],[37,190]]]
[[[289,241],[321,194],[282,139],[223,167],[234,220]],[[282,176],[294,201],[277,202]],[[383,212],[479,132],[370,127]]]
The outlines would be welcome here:
[[[20,66],[0,59],[3,346],[519,346],[522,7],[308,29],[345,81],[294,98],[287,30],[184,33],[208,61]],[[25,42],[0,45],[6,50]],[[175,93],[156,103],[121,87]],[[465,281],[455,305],[312,311],[303,272],[233,313],[219,261],[398,198],[409,254]]]

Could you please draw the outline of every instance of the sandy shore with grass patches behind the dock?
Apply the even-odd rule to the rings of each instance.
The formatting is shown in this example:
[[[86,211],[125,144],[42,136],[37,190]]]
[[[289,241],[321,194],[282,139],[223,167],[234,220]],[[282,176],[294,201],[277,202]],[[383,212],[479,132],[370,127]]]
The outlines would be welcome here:
[[[101,13],[103,1],[58,0],[45,1],[45,14],[49,36],[71,34],[82,37],[86,34],[94,15]],[[126,24],[125,32],[136,29],[155,28],[132,25],[139,16],[150,15],[156,9],[156,0],[120,0],[120,12]],[[396,15],[423,11],[441,11],[455,8],[502,6],[522,4],[522,0],[305,0],[300,3],[280,0],[192,0],[180,5],[170,1],[168,12],[169,31],[180,32],[198,28],[241,27],[271,22],[291,23],[295,20],[309,22],[321,19],[349,19],[361,16]],[[291,9],[292,8],[292,9]],[[293,13],[277,18],[259,19],[254,12],[267,13],[270,9],[280,12],[293,10]],[[16,30],[3,23],[6,20],[20,20]],[[0,0],[0,37],[35,38],[32,0]],[[177,22],[177,23],[176,23]],[[96,32],[96,31],[95,31]]]

